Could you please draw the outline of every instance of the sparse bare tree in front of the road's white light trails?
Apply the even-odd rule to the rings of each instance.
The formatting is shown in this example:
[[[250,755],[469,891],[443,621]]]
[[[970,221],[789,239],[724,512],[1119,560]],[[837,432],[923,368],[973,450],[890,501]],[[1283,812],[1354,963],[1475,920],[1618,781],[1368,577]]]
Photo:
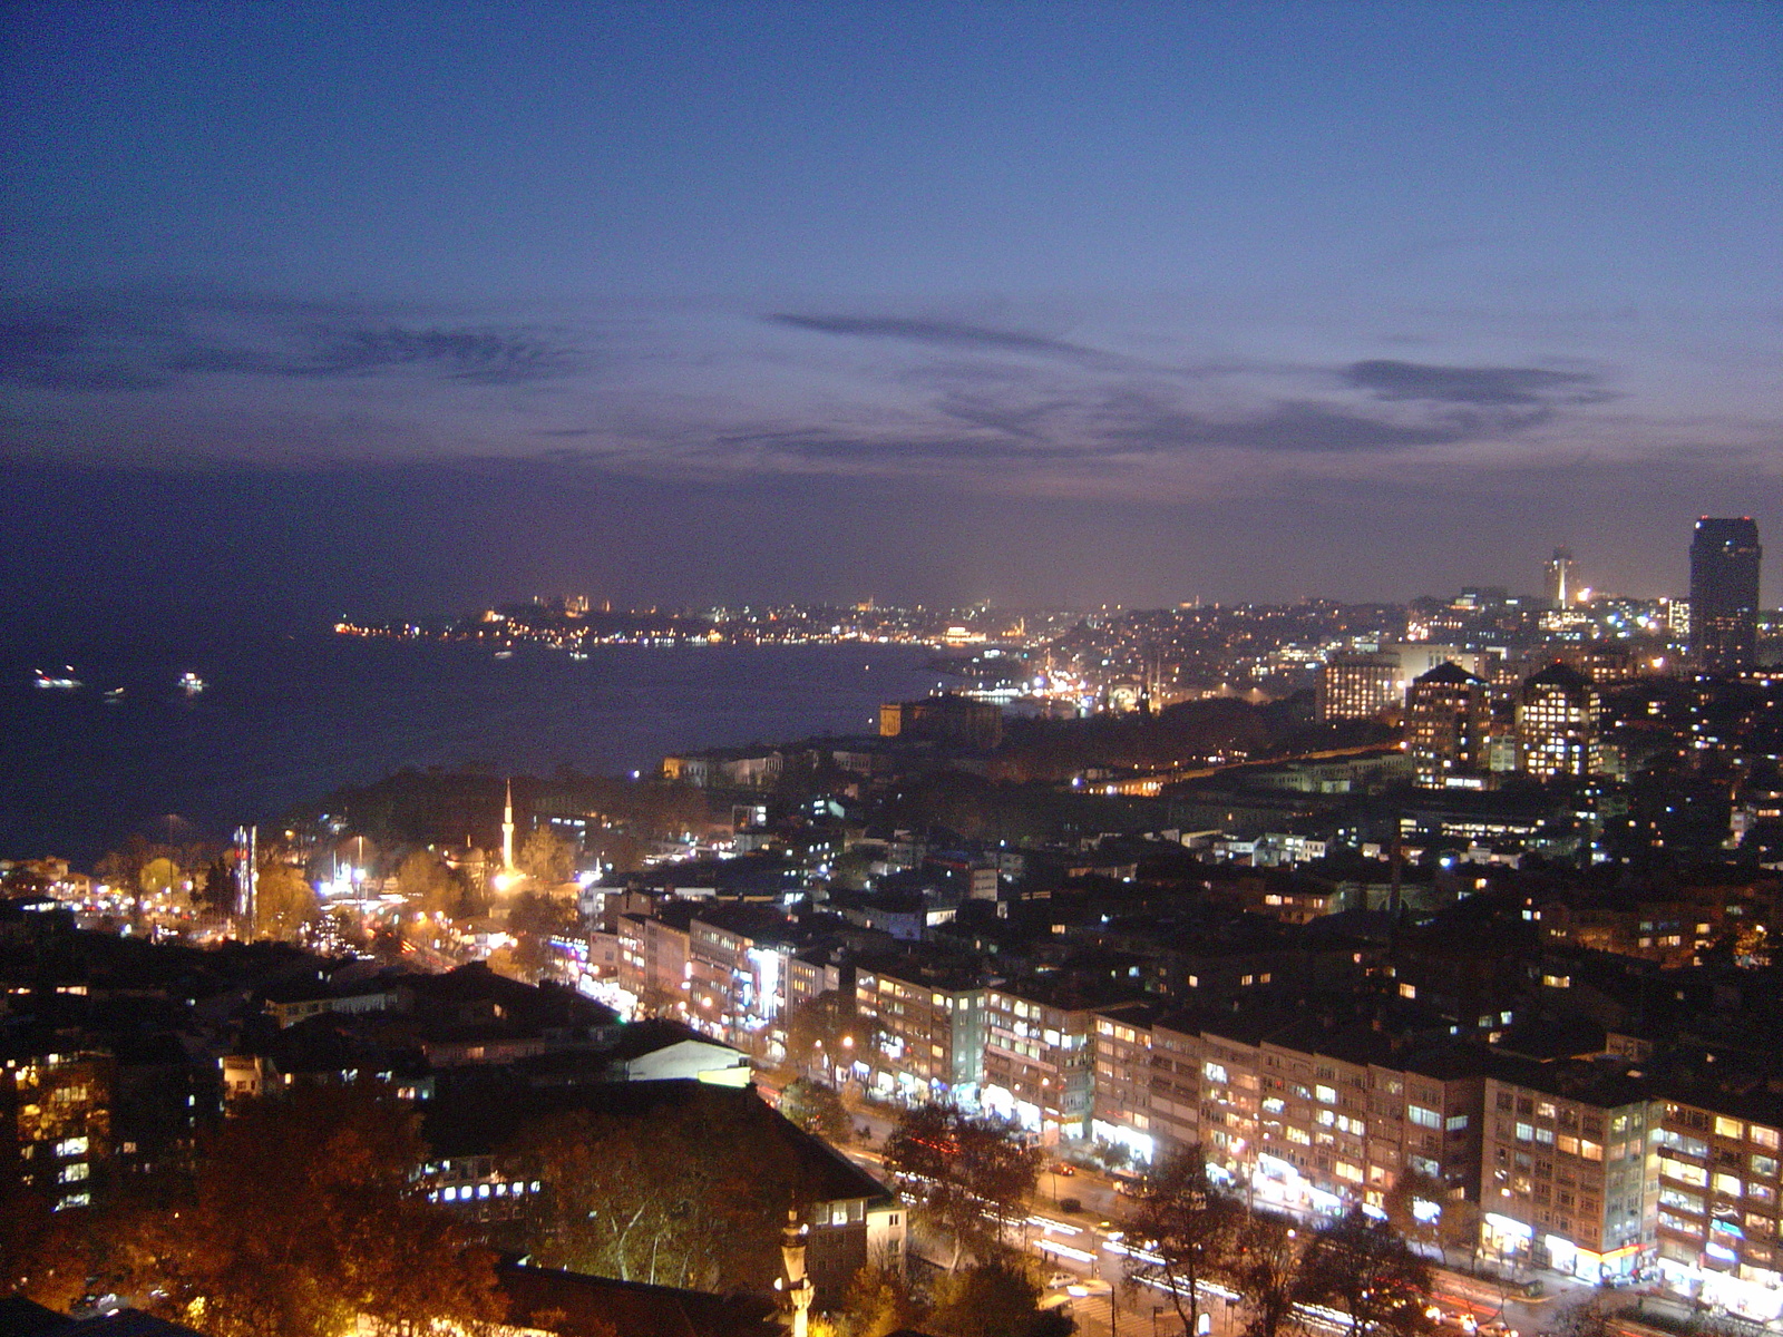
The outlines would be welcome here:
[[[1163,1289],[1182,1330],[1200,1332],[1204,1289],[1232,1271],[1243,1223],[1245,1205],[1209,1178],[1200,1143],[1173,1152],[1139,1185],[1127,1234],[1148,1257],[1129,1257],[1127,1276]]]

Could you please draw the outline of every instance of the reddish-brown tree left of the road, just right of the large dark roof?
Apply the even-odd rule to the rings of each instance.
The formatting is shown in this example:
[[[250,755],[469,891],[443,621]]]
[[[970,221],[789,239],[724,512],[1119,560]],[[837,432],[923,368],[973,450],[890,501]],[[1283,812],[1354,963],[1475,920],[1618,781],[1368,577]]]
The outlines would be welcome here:
[[[1039,1148],[1025,1146],[1015,1125],[918,1105],[886,1136],[884,1166],[918,1216],[952,1241],[952,1273],[966,1250],[993,1253],[1004,1221],[1027,1214]]]

